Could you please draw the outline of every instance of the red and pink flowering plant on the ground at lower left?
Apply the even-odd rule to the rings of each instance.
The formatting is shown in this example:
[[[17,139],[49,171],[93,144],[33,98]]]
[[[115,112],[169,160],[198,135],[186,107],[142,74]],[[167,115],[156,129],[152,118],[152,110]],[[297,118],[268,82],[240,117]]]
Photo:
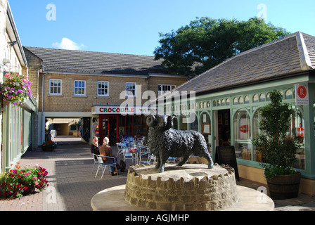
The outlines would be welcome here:
[[[49,186],[46,180],[47,174],[46,169],[39,165],[32,168],[27,165],[21,168],[17,162],[14,169],[1,174],[0,195],[7,198],[22,198],[23,195],[32,193],[35,188],[43,191],[46,186]]]

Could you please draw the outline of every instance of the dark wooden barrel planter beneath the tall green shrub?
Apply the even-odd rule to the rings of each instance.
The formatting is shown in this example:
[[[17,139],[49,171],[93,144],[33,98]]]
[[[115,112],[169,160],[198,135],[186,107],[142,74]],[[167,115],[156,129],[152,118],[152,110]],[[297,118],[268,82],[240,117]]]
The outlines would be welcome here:
[[[297,195],[299,195],[300,180],[300,172],[266,179],[271,198],[274,200],[297,198]]]

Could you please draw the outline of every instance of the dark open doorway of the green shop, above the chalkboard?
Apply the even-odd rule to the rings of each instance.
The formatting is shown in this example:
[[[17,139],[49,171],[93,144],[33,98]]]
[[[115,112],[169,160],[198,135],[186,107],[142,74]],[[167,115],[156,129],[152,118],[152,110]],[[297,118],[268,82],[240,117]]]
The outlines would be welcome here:
[[[230,110],[218,110],[217,136],[219,146],[231,146],[231,113]]]

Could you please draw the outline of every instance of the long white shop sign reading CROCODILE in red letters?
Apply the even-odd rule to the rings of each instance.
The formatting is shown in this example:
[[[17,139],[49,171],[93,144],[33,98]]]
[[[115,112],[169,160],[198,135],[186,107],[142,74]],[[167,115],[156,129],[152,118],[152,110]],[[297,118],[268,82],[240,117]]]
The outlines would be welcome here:
[[[92,114],[122,114],[122,115],[149,115],[157,111],[156,108],[148,108],[142,106],[94,106],[92,107]]]

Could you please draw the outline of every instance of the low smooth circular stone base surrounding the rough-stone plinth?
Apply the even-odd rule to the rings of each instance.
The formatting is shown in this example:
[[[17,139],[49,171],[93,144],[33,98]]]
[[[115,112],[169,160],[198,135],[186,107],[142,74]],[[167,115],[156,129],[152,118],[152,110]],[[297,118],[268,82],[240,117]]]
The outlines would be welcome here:
[[[152,211],[132,206],[124,200],[126,185],[105,189],[91,200],[94,211]],[[273,211],[274,201],[267,195],[252,188],[237,186],[239,200],[233,207],[221,211]]]

